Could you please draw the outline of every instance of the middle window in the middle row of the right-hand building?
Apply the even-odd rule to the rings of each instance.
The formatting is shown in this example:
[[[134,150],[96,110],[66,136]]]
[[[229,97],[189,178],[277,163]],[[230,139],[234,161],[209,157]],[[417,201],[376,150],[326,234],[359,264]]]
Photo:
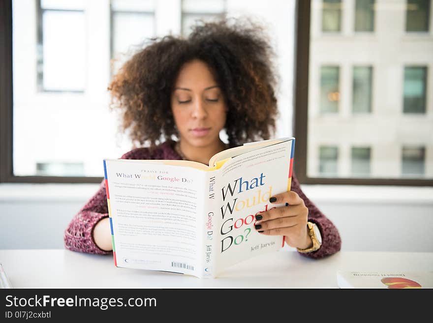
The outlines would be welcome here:
[[[353,113],[371,112],[371,66],[353,67]]]

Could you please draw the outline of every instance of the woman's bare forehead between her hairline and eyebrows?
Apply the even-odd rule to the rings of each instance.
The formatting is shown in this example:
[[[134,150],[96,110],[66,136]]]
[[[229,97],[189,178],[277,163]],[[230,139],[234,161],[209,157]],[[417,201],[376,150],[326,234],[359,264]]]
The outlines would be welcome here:
[[[216,85],[211,68],[205,62],[194,59],[185,63],[176,79],[179,88],[208,88]]]

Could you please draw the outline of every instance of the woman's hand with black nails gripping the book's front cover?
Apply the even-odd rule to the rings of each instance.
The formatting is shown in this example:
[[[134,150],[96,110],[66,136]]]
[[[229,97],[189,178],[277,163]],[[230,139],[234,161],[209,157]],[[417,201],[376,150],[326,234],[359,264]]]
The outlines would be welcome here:
[[[274,199],[275,198],[275,199]],[[306,249],[312,246],[308,234],[308,208],[296,192],[289,191],[271,197],[273,204],[285,203],[256,215],[254,227],[261,235],[284,235],[287,244]]]

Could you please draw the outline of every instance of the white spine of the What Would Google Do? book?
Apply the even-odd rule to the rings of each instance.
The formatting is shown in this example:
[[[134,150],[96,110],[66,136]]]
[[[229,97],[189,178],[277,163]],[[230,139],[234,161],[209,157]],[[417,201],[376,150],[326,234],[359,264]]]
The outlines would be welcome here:
[[[212,278],[215,273],[215,258],[216,258],[216,230],[218,227],[215,223],[217,219],[216,199],[217,194],[217,171],[207,173],[207,201],[205,203],[205,225],[204,225],[204,262],[203,262],[203,278]]]

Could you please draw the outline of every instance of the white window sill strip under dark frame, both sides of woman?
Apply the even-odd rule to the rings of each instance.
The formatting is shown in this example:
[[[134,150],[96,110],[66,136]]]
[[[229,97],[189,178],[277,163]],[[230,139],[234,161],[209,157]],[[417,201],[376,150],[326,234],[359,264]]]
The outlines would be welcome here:
[[[433,187],[301,185],[315,203],[433,205]],[[99,184],[0,184],[0,202],[81,202],[89,200]]]

